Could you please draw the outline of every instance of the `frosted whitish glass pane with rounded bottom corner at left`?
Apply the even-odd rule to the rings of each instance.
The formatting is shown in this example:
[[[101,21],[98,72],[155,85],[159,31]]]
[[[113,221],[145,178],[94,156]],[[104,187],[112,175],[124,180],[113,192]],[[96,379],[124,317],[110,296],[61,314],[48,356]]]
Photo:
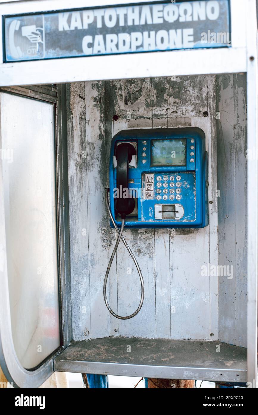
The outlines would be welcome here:
[[[31,369],[60,345],[54,106],[0,94],[12,336]]]

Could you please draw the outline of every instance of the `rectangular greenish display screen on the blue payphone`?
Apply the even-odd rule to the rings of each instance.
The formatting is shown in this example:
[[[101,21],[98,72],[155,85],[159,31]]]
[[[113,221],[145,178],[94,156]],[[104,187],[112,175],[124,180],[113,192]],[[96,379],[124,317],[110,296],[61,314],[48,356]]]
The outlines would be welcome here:
[[[152,140],[151,166],[185,166],[186,139]]]

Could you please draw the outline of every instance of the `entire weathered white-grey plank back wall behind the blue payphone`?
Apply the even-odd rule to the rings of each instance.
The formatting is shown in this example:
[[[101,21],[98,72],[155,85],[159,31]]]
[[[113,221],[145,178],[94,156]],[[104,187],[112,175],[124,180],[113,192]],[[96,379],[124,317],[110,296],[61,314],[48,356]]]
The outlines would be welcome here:
[[[203,265],[218,263],[216,77],[72,83],[67,85],[67,121],[73,338],[218,339],[218,278],[201,275]],[[122,129],[157,127],[205,132],[210,224],[124,231],[141,266],[145,299],[139,315],[117,321],[103,300],[116,238],[105,208],[110,141]],[[108,284],[113,310],[120,315],[134,311],[140,288],[121,243]]]

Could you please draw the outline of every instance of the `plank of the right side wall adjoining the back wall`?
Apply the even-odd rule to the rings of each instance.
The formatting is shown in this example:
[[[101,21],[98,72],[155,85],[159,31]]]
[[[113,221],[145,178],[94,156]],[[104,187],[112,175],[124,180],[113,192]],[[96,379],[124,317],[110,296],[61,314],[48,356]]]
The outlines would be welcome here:
[[[234,79],[229,74],[217,80],[218,263],[233,266],[232,279],[219,277],[219,339],[236,344]]]

